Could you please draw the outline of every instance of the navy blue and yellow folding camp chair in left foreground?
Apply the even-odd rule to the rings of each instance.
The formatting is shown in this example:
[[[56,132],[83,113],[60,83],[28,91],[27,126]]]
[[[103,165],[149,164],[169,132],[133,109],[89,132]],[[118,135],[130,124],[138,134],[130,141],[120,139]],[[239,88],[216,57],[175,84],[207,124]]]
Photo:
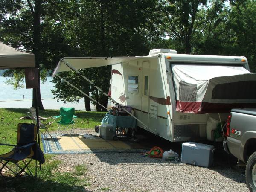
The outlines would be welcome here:
[[[31,177],[33,177],[32,172],[30,171],[28,165],[35,159],[39,160],[40,163],[44,163],[44,154],[42,153],[39,145],[37,144],[37,126],[35,124],[28,123],[19,123],[17,129],[17,144],[0,144],[7,146],[14,146],[12,151],[6,154],[0,155],[0,163],[3,165],[0,168],[0,175],[3,177],[3,180],[8,186],[7,178],[3,175],[3,168],[9,169],[14,173],[15,178],[13,182],[19,177],[23,172]],[[28,162],[25,159],[29,159]],[[21,163],[19,163],[21,161]],[[14,163],[16,165],[14,168],[7,166],[8,163]],[[37,169],[35,169],[35,175],[37,174]],[[11,185],[12,185],[11,183]]]

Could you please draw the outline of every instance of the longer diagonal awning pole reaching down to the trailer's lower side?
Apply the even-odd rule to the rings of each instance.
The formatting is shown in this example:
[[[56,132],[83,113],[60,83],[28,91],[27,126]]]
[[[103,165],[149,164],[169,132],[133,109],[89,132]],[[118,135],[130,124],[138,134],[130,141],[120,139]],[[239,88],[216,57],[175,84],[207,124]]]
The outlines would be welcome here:
[[[96,86],[92,81],[90,81],[89,79],[87,79],[86,76],[84,76],[82,73],[80,73],[76,68],[74,68],[71,64],[69,64],[67,61],[65,61],[64,58],[61,59],[61,61],[64,62],[64,64],[67,65],[67,67],[69,67],[71,70],[75,71],[77,74],[79,74],[82,78],[84,78],[86,81],[88,81],[91,85],[93,85],[97,90],[99,90],[99,92],[101,92],[103,95],[105,95],[106,97],[108,97],[108,99],[110,99],[114,104],[119,105],[126,113],[128,113],[129,115],[131,115],[134,119],[136,119],[138,122],[140,122],[143,126],[145,126],[146,129],[148,129],[149,131],[151,131],[150,128],[148,128],[147,125],[145,125],[145,123],[143,123],[140,119],[138,119],[136,116],[134,116],[133,114],[131,114],[129,111],[127,111],[122,105],[120,105],[118,102],[116,102],[111,96],[108,96],[107,93],[105,93],[102,89],[100,89],[98,86]],[[57,75],[58,76],[58,75]]]

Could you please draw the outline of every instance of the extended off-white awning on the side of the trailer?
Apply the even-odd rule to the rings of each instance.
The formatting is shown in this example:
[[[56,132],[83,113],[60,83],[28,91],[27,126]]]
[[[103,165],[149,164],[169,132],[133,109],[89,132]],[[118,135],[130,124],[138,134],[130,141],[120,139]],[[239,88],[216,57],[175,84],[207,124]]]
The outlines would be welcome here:
[[[64,62],[72,65],[75,69],[85,69],[91,67],[101,67],[113,64],[119,64],[122,62],[129,62],[135,59],[145,58],[157,58],[157,56],[145,56],[145,57],[64,57],[58,62],[57,67],[53,72],[53,77],[58,72],[72,70]]]

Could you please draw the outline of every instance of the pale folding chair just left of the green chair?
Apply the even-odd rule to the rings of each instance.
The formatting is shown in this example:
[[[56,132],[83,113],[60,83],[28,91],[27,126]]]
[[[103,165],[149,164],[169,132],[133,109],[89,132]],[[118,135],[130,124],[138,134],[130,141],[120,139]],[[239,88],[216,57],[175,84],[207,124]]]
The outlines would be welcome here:
[[[29,108],[29,111],[30,113],[28,113],[28,116],[35,122],[37,123],[37,119],[36,119],[36,111],[35,111],[35,108],[34,107],[31,107]],[[52,122],[47,122],[47,123],[42,123],[41,122],[41,119],[49,119],[51,117],[48,117],[48,118],[44,118],[44,117],[41,117],[41,116],[38,116],[39,117],[39,131],[44,135],[44,137],[47,139],[46,137],[46,133],[49,134],[49,136],[52,138],[52,135],[49,133],[49,127],[52,123],[54,123],[53,121]],[[42,129],[44,129],[44,132],[41,131]]]

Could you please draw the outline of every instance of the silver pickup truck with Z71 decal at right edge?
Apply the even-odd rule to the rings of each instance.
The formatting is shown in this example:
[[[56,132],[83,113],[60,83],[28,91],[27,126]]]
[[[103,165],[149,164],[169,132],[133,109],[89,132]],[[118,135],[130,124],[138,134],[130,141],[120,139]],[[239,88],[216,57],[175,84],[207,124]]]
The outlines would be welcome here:
[[[256,192],[256,109],[232,109],[227,118],[224,150],[246,163],[246,182]]]

